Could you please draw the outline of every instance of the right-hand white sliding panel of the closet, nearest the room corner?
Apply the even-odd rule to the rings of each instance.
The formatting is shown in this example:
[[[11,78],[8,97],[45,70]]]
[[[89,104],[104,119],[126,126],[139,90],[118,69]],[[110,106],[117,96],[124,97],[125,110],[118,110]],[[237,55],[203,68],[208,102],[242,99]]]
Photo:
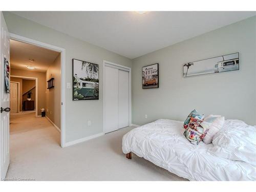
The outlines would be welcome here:
[[[118,129],[129,124],[129,72],[118,71]]]

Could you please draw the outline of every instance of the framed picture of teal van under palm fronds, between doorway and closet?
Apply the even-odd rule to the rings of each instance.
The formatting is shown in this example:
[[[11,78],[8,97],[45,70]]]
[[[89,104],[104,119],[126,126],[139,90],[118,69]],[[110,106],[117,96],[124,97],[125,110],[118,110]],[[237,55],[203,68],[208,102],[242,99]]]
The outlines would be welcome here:
[[[99,99],[99,65],[73,59],[73,100]]]

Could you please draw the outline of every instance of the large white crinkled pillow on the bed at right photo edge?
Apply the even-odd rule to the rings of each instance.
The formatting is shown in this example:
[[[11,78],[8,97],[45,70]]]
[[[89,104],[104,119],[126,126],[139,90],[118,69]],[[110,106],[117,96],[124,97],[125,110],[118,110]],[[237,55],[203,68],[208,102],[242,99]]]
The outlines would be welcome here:
[[[209,153],[256,165],[256,127],[238,120],[228,120],[225,124],[214,136],[214,147],[209,148]]]

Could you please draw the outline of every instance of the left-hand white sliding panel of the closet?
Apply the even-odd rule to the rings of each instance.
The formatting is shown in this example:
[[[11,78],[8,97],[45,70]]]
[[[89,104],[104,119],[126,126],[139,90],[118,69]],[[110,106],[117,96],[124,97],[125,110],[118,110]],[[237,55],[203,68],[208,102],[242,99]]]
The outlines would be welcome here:
[[[105,133],[118,130],[118,71],[105,67]]]

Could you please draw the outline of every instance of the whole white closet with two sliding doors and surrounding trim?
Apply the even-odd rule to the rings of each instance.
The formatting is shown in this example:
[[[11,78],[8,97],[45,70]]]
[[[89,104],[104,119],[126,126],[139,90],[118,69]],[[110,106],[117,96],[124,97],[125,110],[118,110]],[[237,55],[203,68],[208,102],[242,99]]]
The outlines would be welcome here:
[[[131,68],[103,62],[103,127],[109,133],[131,125]]]

